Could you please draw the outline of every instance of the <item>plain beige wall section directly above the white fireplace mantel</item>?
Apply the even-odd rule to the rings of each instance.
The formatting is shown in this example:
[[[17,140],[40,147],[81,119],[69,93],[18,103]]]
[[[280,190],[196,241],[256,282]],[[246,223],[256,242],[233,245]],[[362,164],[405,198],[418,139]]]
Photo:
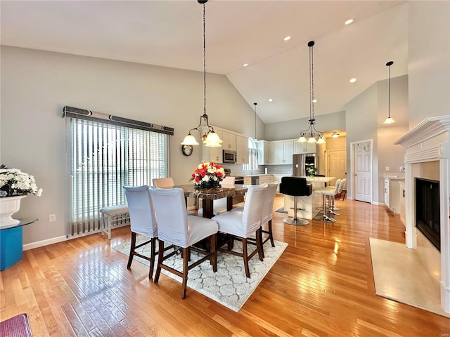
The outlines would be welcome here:
[[[409,3],[409,128],[450,114],[450,1]]]

